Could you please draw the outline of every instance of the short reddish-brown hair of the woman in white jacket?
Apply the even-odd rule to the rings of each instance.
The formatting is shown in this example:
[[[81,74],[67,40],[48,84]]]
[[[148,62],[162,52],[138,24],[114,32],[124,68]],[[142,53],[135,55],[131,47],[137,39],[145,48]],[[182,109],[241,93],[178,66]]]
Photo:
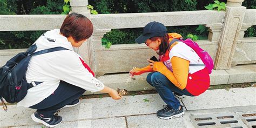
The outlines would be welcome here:
[[[93,32],[93,25],[87,17],[82,14],[72,13],[66,16],[60,33],[65,37],[72,36],[75,42],[82,41],[91,37]]]

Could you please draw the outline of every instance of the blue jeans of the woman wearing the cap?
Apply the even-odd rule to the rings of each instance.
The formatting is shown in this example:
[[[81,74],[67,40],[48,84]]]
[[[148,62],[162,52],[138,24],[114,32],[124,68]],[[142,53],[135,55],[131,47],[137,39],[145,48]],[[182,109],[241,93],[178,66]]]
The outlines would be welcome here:
[[[147,83],[151,86],[155,87],[160,97],[164,100],[164,102],[171,108],[177,110],[179,109],[180,102],[174,97],[172,92],[177,92],[186,96],[193,96],[186,89],[179,89],[175,86],[169,79],[167,79],[160,72],[151,72],[147,75]]]

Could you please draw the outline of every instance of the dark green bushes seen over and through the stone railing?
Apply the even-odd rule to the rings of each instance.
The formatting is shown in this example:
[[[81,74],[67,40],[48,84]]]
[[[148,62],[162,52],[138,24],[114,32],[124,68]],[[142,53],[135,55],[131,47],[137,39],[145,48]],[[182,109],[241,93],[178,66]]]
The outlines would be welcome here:
[[[164,11],[191,11],[205,10],[204,6],[214,0],[89,0],[99,14],[137,13],[137,12],[164,12]],[[226,0],[219,0],[225,2]],[[63,5],[69,0],[0,0],[0,15],[10,14],[61,14]],[[245,0],[242,3],[247,9],[256,9],[256,1]],[[66,10],[66,12],[68,12]],[[94,12],[93,12],[94,13]],[[96,13],[96,12],[95,12]],[[189,33],[197,35],[199,39],[207,39],[208,32],[203,26],[171,26],[167,32],[177,32],[183,37]],[[256,37],[256,25],[245,31],[245,37]],[[0,32],[0,49],[28,48],[44,31],[15,31]],[[134,43],[142,33],[138,29],[114,29],[104,35],[105,45]],[[103,44],[104,44],[103,41]]]

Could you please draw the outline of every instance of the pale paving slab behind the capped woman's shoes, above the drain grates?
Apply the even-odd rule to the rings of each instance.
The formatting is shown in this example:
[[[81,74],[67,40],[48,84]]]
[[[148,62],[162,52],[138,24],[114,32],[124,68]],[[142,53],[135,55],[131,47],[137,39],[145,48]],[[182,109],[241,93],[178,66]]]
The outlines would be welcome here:
[[[187,110],[256,105],[256,87],[207,90],[197,97],[185,97]]]

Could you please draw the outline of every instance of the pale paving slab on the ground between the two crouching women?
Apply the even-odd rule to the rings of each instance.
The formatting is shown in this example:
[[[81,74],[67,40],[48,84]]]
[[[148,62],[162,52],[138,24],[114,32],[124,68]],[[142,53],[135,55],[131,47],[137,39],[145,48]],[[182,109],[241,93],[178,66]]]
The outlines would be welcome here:
[[[84,99],[81,104],[84,103],[92,104],[92,119],[156,113],[165,104],[158,94],[125,96],[120,100]]]

